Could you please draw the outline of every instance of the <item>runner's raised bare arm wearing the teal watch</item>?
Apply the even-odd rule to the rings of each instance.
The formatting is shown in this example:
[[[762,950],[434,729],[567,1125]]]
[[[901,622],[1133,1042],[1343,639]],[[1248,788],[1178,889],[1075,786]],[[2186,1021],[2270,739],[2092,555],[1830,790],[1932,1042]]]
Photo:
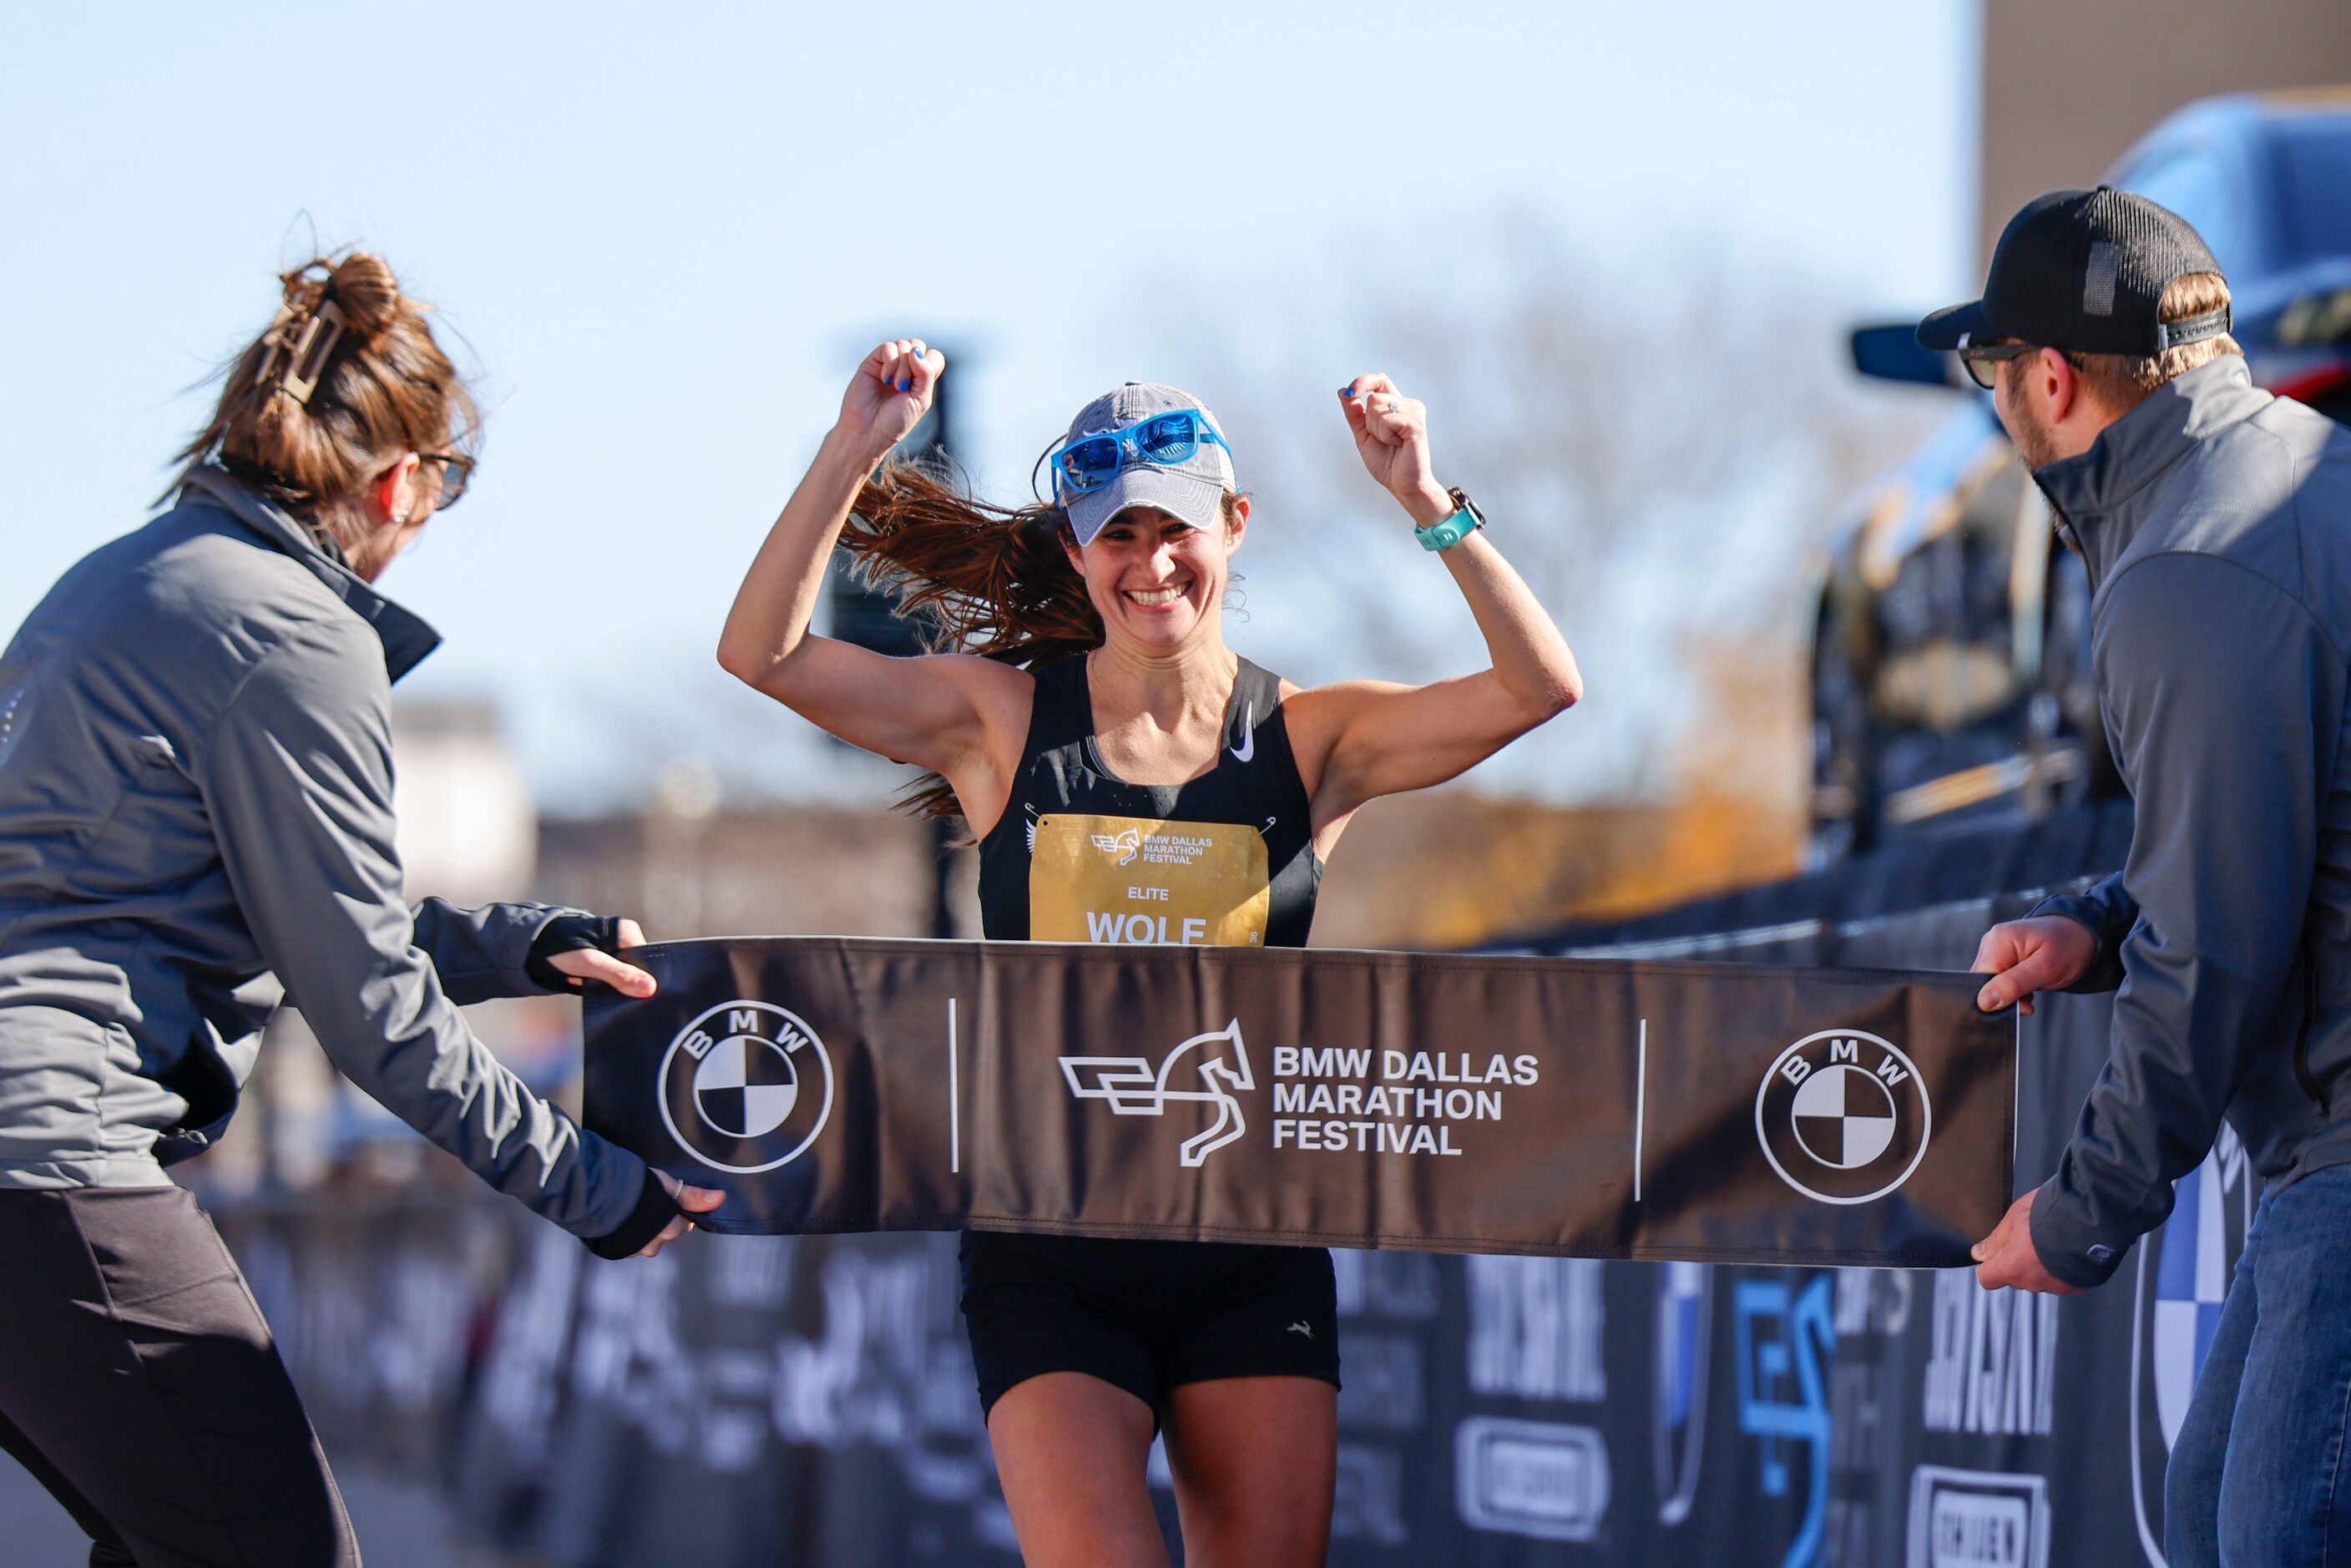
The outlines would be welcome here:
[[[1371,475],[1429,527],[1453,512],[1429,468],[1427,411],[1387,376],[1359,376],[1347,425]],[[1483,529],[1441,555],[1486,637],[1488,670],[1427,686],[1342,682],[1300,691],[1288,712],[1314,795],[1314,825],[1380,795],[1425,790],[1582,698],[1575,654]]]

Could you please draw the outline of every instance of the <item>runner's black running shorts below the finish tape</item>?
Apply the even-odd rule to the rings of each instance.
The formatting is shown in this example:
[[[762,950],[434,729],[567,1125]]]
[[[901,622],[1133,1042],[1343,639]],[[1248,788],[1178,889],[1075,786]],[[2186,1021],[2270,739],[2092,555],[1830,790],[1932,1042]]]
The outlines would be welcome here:
[[[964,1232],[980,1415],[1039,1373],[1086,1373],[1161,1418],[1213,1378],[1338,1387],[1338,1293],[1319,1246]]]

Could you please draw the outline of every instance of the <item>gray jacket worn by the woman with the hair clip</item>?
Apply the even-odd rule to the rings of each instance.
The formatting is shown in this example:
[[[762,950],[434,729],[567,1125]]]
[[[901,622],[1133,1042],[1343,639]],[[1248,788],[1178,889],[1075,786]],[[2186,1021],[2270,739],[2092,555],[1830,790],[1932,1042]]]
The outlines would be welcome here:
[[[219,468],[33,609],[0,654],[0,1187],[167,1182],[282,994],[491,1187],[651,1239],[644,1164],[456,1011],[541,994],[560,910],[402,903],[390,691],[437,642]]]

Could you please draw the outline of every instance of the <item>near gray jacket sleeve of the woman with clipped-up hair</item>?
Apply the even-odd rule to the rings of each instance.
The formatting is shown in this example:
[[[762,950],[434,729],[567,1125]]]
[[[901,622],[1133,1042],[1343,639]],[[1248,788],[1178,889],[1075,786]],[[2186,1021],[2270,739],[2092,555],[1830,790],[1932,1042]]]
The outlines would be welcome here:
[[[371,632],[329,621],[270,651],[193,771],[261,957],[334,1065],[555,1225],[588,1239],[630,1225],[644,1164],[524,1088],[416,947],[393,849],[390,682]],[[449,914],[426,926],[447,945]],[[520,933],[491,919],[477,936],[513,947]]]

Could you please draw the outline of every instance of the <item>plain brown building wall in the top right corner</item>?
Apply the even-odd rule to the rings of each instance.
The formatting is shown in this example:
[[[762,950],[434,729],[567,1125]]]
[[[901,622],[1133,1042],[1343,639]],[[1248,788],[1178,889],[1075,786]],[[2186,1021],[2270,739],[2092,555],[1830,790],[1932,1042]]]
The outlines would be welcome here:
[[[2344,0],[1982,0],[1980,259],[2189,99],[2351,82]]]

